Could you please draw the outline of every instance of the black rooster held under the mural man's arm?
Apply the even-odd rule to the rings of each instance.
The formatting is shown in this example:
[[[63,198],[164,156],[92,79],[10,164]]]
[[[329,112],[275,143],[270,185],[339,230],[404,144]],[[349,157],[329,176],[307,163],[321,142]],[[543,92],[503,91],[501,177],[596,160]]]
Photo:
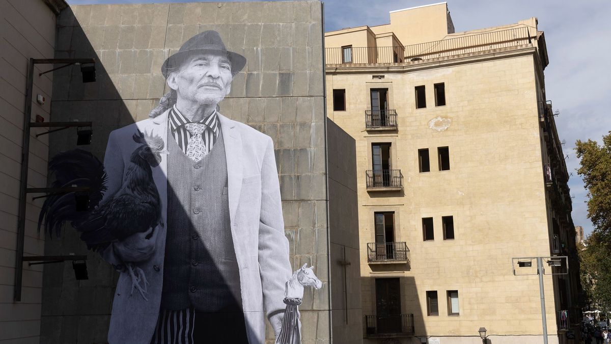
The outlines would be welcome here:
[[[164,142],[159,136],[138,131],[133,140],[140,145],[126,166],[121,188],[104,198],[108,177],[104,165],[90,152],[74,149],[57,154],[49,162],[49,171],[56,180],[51,187],[89,187],[86,193],[90,211],[76,211],[74,192],[51,195],[46,198],[38,217],[38,231],[45,223],[49,234],[60,236],[65,222],[70,222],[79,233],[87,249],[95,252],[106,249],[112,242],[122,241],[135,233],[155,228],[160,219],[159,192],[153,182],[152,168],[161,162]],[[115,154],[116,152],[106,152]],[[152,235],[148,234],[147,239]],[[148,282],[144,271],[133,263],[125,262],[134,288],[145,297]],[[141,284],[142,283],[142,284]]]

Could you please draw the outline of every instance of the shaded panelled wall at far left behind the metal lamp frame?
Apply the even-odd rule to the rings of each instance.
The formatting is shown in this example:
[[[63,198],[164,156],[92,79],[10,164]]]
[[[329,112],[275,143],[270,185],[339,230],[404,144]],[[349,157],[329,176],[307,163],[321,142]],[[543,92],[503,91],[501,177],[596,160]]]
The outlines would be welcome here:
[[[56,13],[42,0],[7,0],[0,2],[0,18],[0,343],[38,343],[42,266],[23,264],[21,302],[13,302],[13,285],[28,64],[30,58],[53,58]],[[34,69],[32,121],[37,114],[49,121],[51,102],[39,105],[35,99],[37,94],[51,97],[53,76],[38,77],[51,68]],[[48,136],[34,136],[45,130],[32,130],[28,187],[46,186]],[[27,196],[24,255],[44,253],[44,236],[35,226],[40,204]]]

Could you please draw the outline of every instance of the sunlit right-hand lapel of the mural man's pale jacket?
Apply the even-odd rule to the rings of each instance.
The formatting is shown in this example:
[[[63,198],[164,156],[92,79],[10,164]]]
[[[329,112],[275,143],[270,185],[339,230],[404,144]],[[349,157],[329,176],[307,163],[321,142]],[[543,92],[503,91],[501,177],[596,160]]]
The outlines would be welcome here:
[[[235,224],[235,213],[240,201],[242,191],[242,136],[236,128],[236,122],[219,115],[221,132],[225,143],[225,156],[227,160],[227,189],[229,191],[229,217],[232,225]]]

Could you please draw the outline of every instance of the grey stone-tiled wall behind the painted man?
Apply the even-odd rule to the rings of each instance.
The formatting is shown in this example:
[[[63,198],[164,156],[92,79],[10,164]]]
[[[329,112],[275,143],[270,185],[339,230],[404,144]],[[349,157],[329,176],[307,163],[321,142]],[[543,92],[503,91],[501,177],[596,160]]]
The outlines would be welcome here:
[[[321,4],[219,2],[73,6],[60,17],[57,57],[95,57],[98,82],[56,73],[56,118],[94,122],[92,152],[103,157],[108,133],[147,118],[167,92],[161,64],[197,32],[214,29],[228,50],[247,58],[220,112],[274,139],[291,264],[312,264],[323,280],[300,306],[304,343],[329,342],[329,243]],[[53,135],[50,155],[72,148],[74,135]],[[45,343],[106,340],[117,274],[73,233],[48,241],[46,253],[89,256],[90,280],[70,266],[45,269]],[[268,338],[273,337],[269,331]]]

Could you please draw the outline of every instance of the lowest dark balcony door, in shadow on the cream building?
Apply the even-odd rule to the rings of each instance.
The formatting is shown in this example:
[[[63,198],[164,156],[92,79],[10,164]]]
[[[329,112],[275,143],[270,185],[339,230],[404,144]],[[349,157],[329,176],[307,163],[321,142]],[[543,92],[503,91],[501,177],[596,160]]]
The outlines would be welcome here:
[[[401,332],[401,284],[399,279],[376,279],[378,333]]]

